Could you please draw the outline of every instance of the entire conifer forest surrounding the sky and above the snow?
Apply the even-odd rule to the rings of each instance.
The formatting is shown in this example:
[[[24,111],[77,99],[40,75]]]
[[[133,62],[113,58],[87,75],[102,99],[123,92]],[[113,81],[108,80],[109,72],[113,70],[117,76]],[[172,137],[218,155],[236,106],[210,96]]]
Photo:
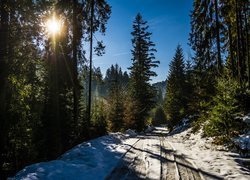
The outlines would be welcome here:
[[[109,132],[171,131],[189,118],[222,144],[248,130],[239,117],[250,112],[249,8],[194,0],[192,57],[176,44],[166,81],[153,84],[160,61],[143,14],[131,22],[128,69],[102,74],[92,56],[105,53],[94,34],[105,35],[108,0],[0,0],[0,179]]]

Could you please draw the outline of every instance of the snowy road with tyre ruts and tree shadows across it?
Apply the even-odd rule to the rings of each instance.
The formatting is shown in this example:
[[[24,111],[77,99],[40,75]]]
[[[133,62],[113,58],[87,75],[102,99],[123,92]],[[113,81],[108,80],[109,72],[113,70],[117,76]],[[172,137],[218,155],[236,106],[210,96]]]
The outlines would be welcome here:
[[[164,139],[166,133],[155,130],[138,137],[106,179],[203,179],[192,163],[175,154],[171,144]]]

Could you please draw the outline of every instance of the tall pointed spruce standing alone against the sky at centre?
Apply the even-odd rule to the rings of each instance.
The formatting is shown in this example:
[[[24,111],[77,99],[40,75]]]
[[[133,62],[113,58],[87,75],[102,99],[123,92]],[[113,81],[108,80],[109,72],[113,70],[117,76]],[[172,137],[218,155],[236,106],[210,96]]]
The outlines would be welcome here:
[[[133,36],[132,45],[132,66],[129,68],[130,72],[130,92],[132,101],[136,107],[136,112],[133,113],[134,128],[138,131],[143,130],[145,120],[148,116],[149,110],[155,104],[154,102],[154,88],[150,84],[151,77],[157,76],[152,71],[152,68],[158,67],[159,61],[155,60],[154,53],[156,49],[155,44],[151,41],[151,34],[148,31],[149,26],[147,22],[142,19],[140,14],[137,14],[133,22]],[[128,121],[130,121],[128,119]]]

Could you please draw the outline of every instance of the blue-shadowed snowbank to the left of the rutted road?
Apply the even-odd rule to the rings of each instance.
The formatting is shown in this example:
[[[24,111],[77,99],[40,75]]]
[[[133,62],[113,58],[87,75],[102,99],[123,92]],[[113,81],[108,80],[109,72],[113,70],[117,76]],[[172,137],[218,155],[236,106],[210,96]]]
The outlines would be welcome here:
[[[133,137],[135,135],[134,132]],[[122,155],[138,140],[133,137],[130,134],[112,133],[84,142],[57,160],[27,166],[9,179],[105,179]]]

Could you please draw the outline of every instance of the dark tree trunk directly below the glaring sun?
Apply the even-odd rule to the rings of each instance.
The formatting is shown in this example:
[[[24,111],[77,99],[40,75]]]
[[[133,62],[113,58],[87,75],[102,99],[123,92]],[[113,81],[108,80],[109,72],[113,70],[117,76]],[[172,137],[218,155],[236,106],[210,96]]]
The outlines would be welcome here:
[[[60,89],[59,89],[59,47],[58,39],[52,42],[53,48],[49,52],[49,97],[45,109],[46,146],[48,159],[54,159],[62,152],[62,130],[60,116]]]

